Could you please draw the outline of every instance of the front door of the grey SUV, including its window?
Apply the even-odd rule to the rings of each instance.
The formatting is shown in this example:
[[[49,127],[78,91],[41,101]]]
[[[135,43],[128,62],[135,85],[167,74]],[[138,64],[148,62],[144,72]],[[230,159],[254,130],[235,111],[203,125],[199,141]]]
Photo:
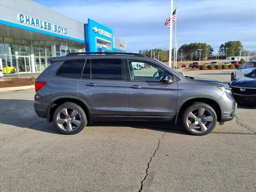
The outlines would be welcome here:
[[[144,67],[134,70],[134,62],[144,63]],[[151,62],[128,60],[127,65],[131,79],[127,81],[128,120],[171,120],[176,109],[177,82],[163,83],[165,70]]]

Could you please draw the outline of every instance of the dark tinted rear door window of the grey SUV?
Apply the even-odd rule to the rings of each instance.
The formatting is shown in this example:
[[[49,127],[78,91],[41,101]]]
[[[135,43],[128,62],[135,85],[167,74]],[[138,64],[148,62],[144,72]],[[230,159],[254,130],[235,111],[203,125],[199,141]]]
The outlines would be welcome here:
[[[92,59],[92,79],[122,80],[121,59]]]

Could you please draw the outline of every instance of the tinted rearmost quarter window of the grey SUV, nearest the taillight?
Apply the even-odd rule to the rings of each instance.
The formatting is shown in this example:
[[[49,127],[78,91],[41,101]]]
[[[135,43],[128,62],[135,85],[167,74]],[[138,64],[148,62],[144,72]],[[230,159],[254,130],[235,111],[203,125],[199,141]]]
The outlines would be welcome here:
[[[84,67],[84,62],[85,60],[65,61],[55,75],[67,78],[79,78]]]

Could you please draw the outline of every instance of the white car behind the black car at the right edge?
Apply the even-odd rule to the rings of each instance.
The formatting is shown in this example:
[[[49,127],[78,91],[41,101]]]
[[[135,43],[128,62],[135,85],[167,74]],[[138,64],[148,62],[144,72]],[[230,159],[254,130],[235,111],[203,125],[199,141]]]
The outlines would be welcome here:
[[[238,69],[232,71],[231,81],[240,77],[244,77],[248,73],[252,72],[254,69],[256,69],[256,61],[245,62]]]

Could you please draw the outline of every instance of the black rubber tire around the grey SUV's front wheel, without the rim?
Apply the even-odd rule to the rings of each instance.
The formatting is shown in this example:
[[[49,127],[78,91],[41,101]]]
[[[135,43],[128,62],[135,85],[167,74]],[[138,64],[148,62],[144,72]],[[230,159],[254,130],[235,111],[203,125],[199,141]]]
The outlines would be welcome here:
[[[188,114],[192,111],[192,110],[196,110],[198,108],[204,108],[206,110],[208,110],[211,114],[212,114],[212,125],[205,131],[205,132],[194,132],[192,131],[189,127],[188,127],[188,124],[187,124],[187,116]],[[190,105],[188,108],[184,109],[182,111],[182,118],[181,118],[181,121],[182,121],[182,125],[184,127],[184,129],[186,130],[186,132],[188,132],[189,134],[192,134],[192,135],[206,135],[208,133],[210,133],[214,127],[216,126],[216,123],[217,123],[217,115],[216,115],[216,112],[214,111],[214,109],[209,106],[208,104],[205,104],[205,103],[201,103],[201,102],[194,102],[192,105]]]

